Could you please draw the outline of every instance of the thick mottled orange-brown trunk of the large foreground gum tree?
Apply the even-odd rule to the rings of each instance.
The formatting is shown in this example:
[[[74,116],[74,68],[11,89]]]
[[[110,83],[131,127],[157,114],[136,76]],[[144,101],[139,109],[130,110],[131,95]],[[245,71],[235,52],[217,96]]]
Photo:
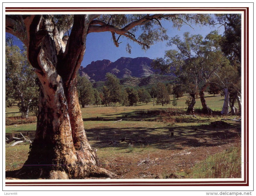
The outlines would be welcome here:
[[[98,167],[97,155],[86,138],[78,102],[77,74],[85,52],[87,19],[87,16],[74,17],[72,45],[65,58],[64,54],[57,55],[58,40],[54,34],[45,34],[42,44],[38,44],[38,37],[33,38],[33,27],[30,28],[28,58],[40,81],[39,114],[28,160],[17,173],[20,177],[83,179],[114,175]],[[35,24],[40,23],[38,18],[34,20]],[[35,24],[32,21],[31,25]],[[85,37],[77,39],[80,34]]]

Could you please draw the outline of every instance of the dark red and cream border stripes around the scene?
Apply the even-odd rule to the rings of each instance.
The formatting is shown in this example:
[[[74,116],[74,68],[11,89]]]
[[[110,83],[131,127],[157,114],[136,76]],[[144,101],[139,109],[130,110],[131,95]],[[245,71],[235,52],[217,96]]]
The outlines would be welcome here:
[[[36,9],[36,10],[35,10]],[[6,186],[249,186],[249,8],[5,8],[5,12],[154,12],[154,11],[242,11],[244,12],[244,180],[179,182],[5,182]],[[131,179],[132,180],[132,179]],[[221,184],[219,184],[221,183]],[[238,183],[238,184],[235,184]],[[65,185],[64,185],[65,184]]]

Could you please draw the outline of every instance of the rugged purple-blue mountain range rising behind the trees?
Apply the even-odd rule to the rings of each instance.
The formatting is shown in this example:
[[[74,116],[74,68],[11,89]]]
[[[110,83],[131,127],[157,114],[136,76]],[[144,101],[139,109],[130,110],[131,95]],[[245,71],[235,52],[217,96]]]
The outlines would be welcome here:
[[[162,80],[169,80],[168,78],[156,74],[155,69],[151,67],[152,59],[148,57],[121,57],[115,62],[110,60],[92,61],[86,67],[80,67],[79,74],[90,79],[91,82],[105,81],[106,73],[112,73],[121,79],[121,83],[129,86],[154,83],[161,78]],[[170,76],[170,75],[169,75]],[[173,76],[171,77],[173,79]]]

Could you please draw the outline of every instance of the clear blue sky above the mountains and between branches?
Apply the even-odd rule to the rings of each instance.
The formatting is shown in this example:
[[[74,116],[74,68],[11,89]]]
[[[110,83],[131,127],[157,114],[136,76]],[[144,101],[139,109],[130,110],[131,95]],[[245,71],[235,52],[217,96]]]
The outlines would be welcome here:
[[[183,36],[184,32],[190,32],[191,34],[201,34],[203,37],[210,33],[213,30],[218,30],[218,26],[209,27],[209,26],[193,26],[193,28],[188,25],[183,25],[180,30],[173,28],[172,23],[168,21],[162,22],[162,26],[167,28],[167,34],[169,37],[174,37],[175,35]],[[224,28],[219,29],[219,34],[223,34]],[[117,48],[113,41],[111,40],[112,36],[110,32],[100,32],[100,33],[90,33],[86,38],[86,52],[81,66],[86,67],[92,61],[108,59],[112,62],[116,61],[120,57],[148,57],[150,59],[155,59],[157,57],[163,57],[165,50],[175,49],[170,46],[166,46],[167,41],[158,42],[155,45],[152,45],[150,49],[146,52],[141,49],[141,47],[133,42],[127,41],[126,38],[119,40],[122,43]],[[131,54],[128,54],[125,50],[126,44],[129,44],[132,47]],[[15,41],[15,45],[21,47],[21,41]],[[173,46],[174,47],[174,46]]]

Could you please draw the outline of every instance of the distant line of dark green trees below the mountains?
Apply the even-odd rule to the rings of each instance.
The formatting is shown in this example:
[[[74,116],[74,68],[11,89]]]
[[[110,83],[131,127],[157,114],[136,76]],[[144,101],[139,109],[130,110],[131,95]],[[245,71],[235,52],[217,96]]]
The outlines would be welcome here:
[[[107,73],[105,83],[100,88],[93,88],[93,84],[86,78],[78,76],[77,88],[79,101],[82,107],[87,105],[136,106],[138,103],[153,101],[154,104],[162,106],[170,104],[170,95],[183,96],[184,90],[180,84],[158,82],[151,87],[128,87],[120,84],[114,74]],[[152,100],[153,99],[153,100]]]

